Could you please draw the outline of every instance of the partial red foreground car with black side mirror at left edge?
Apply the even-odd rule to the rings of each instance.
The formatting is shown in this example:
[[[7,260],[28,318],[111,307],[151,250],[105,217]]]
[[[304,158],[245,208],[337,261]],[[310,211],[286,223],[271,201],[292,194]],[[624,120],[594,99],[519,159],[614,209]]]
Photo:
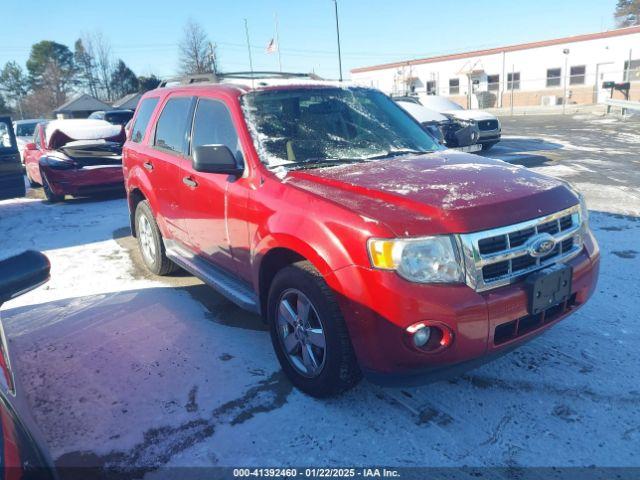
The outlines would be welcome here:
[[[0,306],[43,284],[49,278],[49,260],[29,251],[0,261]],[[16,378],[0,321],[0,470],[2,478],[55,479],[51,458],[31,416],[29,404]]]

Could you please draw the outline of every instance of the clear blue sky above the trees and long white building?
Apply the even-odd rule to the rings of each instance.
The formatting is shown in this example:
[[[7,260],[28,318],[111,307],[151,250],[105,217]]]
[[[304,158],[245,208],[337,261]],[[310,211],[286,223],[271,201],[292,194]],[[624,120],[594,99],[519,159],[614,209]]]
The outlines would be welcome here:
[[[276,70],[268,55],[279,19],[283,68],[338,76],[332,0],[42,0],[3,1],[0,65],[24,66],[30,46],[54,40],[73,48],[83,32],[101,31],[137,74],[167,76],[188,18],[218,46],[222,69],[248,70],[244,18],[256,70]],[[615,0],[435,1],[338,0],[343,71],[377,63],[460,52],[613,28]]]

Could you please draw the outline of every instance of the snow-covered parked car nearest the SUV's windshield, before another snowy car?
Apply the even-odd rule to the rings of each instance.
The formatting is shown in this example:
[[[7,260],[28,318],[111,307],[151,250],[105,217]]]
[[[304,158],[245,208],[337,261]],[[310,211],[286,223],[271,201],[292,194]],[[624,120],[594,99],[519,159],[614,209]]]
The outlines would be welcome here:
[[[464,152],[477,152],[482,149],[482,145],[478,143],[480,130],[475,122],[447,118],[422,105],[416,97],[398,97],[394,100],[442,145]]]

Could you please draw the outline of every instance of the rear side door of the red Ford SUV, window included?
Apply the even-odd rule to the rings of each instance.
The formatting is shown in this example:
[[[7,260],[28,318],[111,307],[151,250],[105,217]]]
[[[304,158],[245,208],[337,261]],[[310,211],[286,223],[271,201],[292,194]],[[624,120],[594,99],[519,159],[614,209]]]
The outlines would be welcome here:
[[[162,216],[169,235],[182,243],[188,242],[188,236],[179,195],[184,186],[182,163],[188,161],[188,132],[194,103],[195,98],[188,95],[168,97],[155,125],[154,158],[149,167],[156,195],[156,213]]]

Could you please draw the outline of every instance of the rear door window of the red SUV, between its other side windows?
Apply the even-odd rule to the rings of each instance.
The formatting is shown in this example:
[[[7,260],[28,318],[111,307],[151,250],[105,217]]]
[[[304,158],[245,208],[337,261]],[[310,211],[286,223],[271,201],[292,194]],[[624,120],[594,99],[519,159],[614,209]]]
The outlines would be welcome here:
[[[191,102],[191,97],[179,97],[166,103],[156,126],[156,147],[187,153],[187,124],[190,123]]]

